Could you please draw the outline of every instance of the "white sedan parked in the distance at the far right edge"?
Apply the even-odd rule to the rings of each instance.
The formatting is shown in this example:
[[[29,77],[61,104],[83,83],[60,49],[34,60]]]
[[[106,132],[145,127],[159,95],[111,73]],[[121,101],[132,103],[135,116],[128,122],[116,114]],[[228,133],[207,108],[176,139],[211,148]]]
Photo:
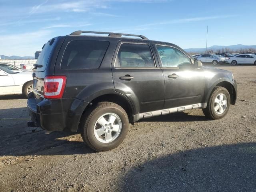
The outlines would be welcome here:
[[[228,63],[232,65],[237,64],[254,64],[256,65],[256,55],[254,54],[239,54],[228,60]]]

